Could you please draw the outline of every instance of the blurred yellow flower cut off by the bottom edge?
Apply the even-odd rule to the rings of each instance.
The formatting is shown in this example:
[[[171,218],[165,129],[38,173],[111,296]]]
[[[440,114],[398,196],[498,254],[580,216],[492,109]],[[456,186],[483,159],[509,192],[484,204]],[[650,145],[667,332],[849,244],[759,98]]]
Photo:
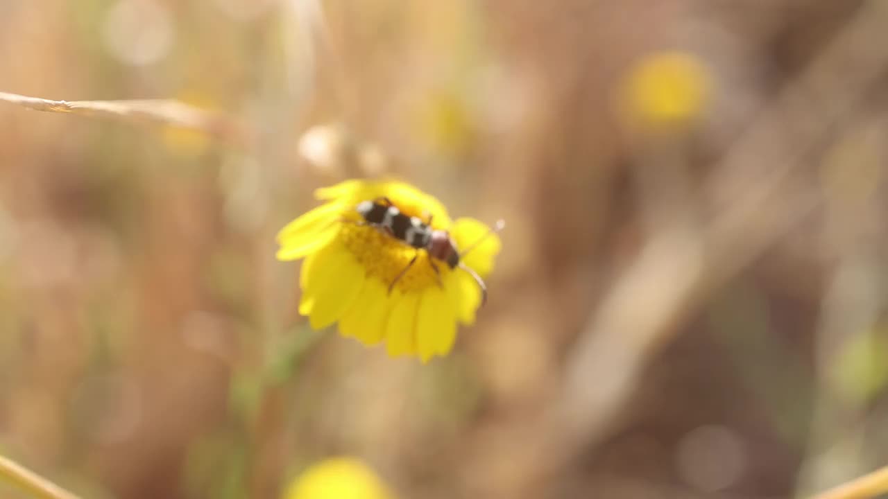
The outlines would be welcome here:
[[[352,457],[315,463],[297,476],[283,499],[393,499],[385,483],[367,465]]]

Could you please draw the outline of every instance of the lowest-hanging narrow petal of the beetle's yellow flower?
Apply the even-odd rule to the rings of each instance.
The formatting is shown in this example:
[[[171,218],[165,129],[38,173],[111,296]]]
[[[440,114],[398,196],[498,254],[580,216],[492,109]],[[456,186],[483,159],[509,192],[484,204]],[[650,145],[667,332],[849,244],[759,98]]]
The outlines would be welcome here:
[[[416,315],[416,351],[423,362],[432,355],[444,355],[456,340],[456,317],[443,289],[432,288],[423,293]]]

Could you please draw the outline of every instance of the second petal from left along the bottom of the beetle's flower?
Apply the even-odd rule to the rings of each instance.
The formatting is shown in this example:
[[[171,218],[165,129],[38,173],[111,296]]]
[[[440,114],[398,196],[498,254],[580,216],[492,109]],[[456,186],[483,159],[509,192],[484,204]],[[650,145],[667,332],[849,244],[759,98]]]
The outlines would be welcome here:
[[[367,278],[361,294],[339,321],[339,331],[345,337],[357,338],[364,345],[377,345],[385,337],[385,321],[392,303],[382,281]]]

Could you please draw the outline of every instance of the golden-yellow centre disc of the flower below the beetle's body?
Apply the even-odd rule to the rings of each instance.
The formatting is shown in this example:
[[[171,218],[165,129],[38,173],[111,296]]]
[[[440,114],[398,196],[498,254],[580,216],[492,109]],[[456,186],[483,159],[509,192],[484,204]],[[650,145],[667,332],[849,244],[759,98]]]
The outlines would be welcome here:
[[[416,249],[374,227],[344,223],[339,230],[339,239],[358,258],[367,275],[383,281],[386,286],[398,278],[398,274],[407,268],[416,255]],[[438,276],[432,264],[438,267],[442,280],[450,272],[445,262],[433,259],[426,251],[419,249],[416,262],[401,276],[395,287],[408,293],[438,286]]]

